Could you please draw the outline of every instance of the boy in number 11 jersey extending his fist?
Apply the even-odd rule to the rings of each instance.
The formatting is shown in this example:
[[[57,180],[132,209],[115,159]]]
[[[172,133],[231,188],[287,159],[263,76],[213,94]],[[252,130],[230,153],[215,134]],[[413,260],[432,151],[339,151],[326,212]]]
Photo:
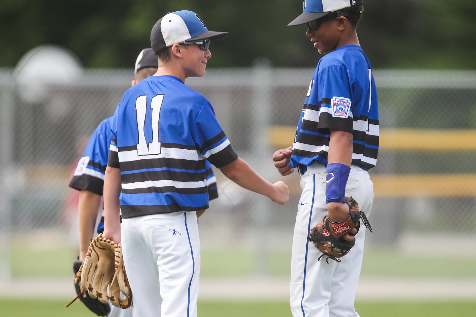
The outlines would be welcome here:
[[[150,35],[159,70],[126,91],[114,114],[103,237],[122,241],[134,316],[197,316],[205,159],[241,187],[288,201],[288,187],[239,158],[210,102],[185,85],[205,75],[210,41],[227,35],[209,31],[195,12],[166,14]]]

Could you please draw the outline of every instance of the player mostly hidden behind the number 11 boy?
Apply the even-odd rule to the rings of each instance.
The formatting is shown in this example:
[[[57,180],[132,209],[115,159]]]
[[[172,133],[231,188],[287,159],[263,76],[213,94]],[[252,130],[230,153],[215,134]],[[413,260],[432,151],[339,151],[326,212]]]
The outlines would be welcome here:
[[[150,48],[144,49],[136,59],[134,69],[134,79],[131,85],[136,85],[142,79],[147,78],[157,72],[158,60],[154,51]],[[112,138],[111,123],[113,117],[103,120],[89,139],[82,158],[79,159],[74,176],[69,183],[69,187],[77,189],[79,193],[79,256],[74,262],[73,269],[76,273],[84,261],[90,238],[94,234],[94,227],[98,218],[101,196],[103,194],[104,172],[106,170],[109,146]],[[218,197],[216,178],[208,161],[206,163],[206,183],[208,196],[210,199]],[[204,210],[200,210],[202,214]],[[99,221],[97,232],[104,229],[104,211]],[[79,292],[79,290],[78,290]],[[86,295],[87,296],[87,295]],[[101,316],[108,314],[109,317],[129,317],[132,316],[132,309],[120,309],[109,303],[103,304],[91,297],[80,299],[85,302],[96,314]],[[109,312],[110,310],[110,312]]]

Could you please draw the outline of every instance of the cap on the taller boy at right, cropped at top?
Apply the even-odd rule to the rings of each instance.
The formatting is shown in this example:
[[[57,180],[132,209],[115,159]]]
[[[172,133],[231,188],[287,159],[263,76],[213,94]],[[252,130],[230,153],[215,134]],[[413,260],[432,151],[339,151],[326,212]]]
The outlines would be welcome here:
[[[330,12],[350,8],[354,5],[364,4],[364,0],[304,0],[300,16],[288,26],[306,24],[329,14]]]

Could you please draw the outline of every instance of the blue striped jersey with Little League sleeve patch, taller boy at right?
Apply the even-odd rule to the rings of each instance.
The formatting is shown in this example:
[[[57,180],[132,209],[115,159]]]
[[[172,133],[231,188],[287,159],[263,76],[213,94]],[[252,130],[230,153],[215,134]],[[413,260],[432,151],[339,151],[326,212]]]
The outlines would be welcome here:
[[[352,164],[376,166],[377,89],[370,62],[358,45],[340,47],[319,60],[297,124],[290,166],[327,165],[329,129],[353,135]]]

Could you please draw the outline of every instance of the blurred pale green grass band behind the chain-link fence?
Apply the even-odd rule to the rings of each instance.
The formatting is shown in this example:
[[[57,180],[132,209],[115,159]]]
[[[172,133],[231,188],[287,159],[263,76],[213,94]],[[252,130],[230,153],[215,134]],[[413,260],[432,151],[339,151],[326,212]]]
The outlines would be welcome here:
[[[48,258],[45,257],[48,254]],[[55,250],[30,248],[19,245],[12,249],[11,267],[14,278],[69,277],[76,251],[64,247]],[[25,259],[29,259],[25,261]],[[239,277],[257,273],[257,255],[250,250],[229,248],[226,250],[202,249],[201,277]],[[269,252],[264,266],[270,276],[288,276],[290,250]],[[455,261],[443,254],[411,256],[395,250],[366,251],[361,277],[428,277],[428,278],[476,278],[476,258]]]

